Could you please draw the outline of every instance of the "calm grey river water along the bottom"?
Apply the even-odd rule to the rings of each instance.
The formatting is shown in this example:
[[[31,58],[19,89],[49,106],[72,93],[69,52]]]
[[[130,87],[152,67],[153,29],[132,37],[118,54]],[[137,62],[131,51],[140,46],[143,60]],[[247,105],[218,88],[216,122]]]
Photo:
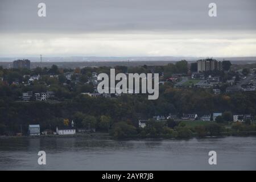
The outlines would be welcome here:
[[[38,151],[47,164],[39,166]],[[208,152],[217,152],[217,165]],[[107,137],[0,138],[1,170],[255,170],[256,137],[112,140]]]

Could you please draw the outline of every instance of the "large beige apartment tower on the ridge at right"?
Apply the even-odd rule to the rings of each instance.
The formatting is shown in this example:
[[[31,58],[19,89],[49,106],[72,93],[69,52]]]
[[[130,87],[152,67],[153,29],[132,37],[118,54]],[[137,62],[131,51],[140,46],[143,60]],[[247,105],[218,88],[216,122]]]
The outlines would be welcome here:
[[[205,71],[213,71],[213,70],[222,70],[222,62],[213,60],[213,59],[205,59],[197,61],[197,72],[205,72]]]

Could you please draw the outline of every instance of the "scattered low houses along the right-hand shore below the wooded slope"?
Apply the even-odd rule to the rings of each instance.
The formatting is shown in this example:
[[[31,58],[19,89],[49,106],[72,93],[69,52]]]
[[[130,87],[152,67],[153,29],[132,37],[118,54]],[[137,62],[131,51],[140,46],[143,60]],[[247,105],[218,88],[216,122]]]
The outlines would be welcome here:
[[[216,118],[218,116],[221,116],[222,113],[213,113],[212,117],[211,114],[203,114],[203,115],[197,115],[197,114],[182,114],[181,117],[177,117],[175,114],[169,114],[167,117],[164,117],[162,115],[154,116],[153,119],[155,121],[166,121],[166,119],[174,119],[174,120],[187,120],[187,121],[216,121]],[[234,114],[233,115],[233,122],[245,122],[245,121],[253,121],[253,117],[251,114]],[[138,125],[141,128],[146,127],[148,119],[139,119]]]

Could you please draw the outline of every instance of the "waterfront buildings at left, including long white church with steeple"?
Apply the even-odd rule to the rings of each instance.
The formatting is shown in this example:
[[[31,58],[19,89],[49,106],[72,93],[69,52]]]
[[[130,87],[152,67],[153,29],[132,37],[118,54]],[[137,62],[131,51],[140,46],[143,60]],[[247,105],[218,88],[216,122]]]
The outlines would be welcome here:
[[[42,135],[75,135],[76,133],[92,133],[96,130],[94,128],[85,129],[85,128],[76,128],[74,122],[71,122],[71,126],[57,126],[56,132],[52,130],[44,130],[40,132],[40,125],[28,125],[28,135],[30,136],[40,136]]]

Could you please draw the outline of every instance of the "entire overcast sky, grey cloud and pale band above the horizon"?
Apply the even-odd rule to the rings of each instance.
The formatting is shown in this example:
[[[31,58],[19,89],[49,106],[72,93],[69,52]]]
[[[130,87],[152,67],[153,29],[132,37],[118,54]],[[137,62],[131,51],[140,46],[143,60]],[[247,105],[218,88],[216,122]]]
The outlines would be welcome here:
[[[255,0],[0,0],[0,56],[256,56],[255,19]]]

